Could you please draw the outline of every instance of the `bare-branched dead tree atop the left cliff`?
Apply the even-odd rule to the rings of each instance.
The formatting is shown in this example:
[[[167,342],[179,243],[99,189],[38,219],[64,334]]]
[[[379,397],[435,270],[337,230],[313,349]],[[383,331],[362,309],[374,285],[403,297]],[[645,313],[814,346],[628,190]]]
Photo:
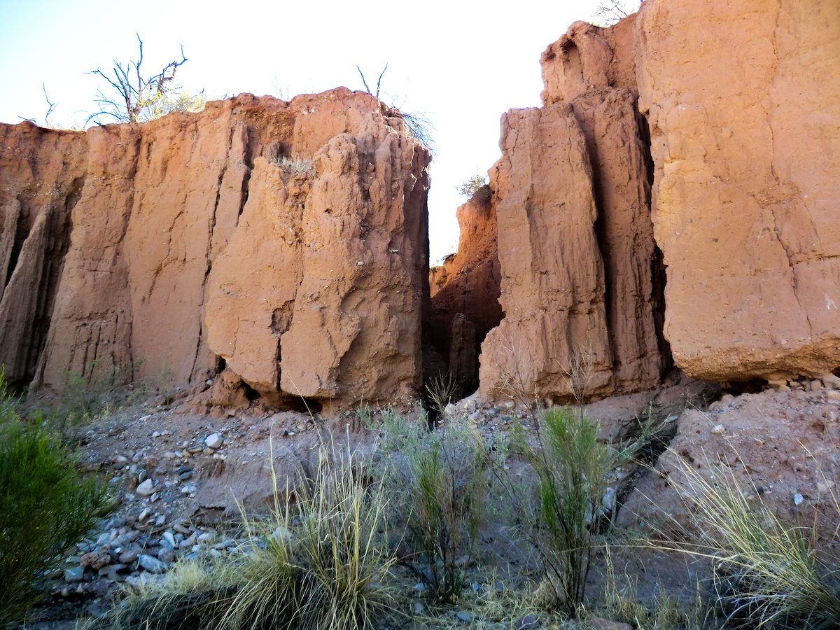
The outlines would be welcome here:
[[[137,41],[140,48],[138,60],[129,61],[125,66],[114,60],[114,66],[111,69],[113,78],[102,68],[87,73],[102,76],[117,92],[113,96],[108,96],[99,90],[96,102],[99,103],[100,109],[87,118],[87,123],[99,116],[110,116],[118,123],[142,122],[140,114],[144,110],[154,108],[155,104],[165,99],[167,92],[171,90],[171,81],[175,78],[176,70],[187,61],[184,56],[184,47],[181,46],[180,61],[171,61],[156,75],[144,77],[140,73],[140,66],[143,64],[143,40],[140,39],[139,34]],[[98,120],[96,122],[99,123]]]

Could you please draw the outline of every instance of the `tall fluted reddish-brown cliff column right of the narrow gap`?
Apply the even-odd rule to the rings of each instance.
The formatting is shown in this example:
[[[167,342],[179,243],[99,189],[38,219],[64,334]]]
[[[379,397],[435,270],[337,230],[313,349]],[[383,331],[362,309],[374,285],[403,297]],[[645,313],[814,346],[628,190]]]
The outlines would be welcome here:
[[[485,396],[637,391],[669,363],[633,32],[632,19],[573,24],[543,53],[543,107],[502,118],[491,189],[505,317],[481,348]]]

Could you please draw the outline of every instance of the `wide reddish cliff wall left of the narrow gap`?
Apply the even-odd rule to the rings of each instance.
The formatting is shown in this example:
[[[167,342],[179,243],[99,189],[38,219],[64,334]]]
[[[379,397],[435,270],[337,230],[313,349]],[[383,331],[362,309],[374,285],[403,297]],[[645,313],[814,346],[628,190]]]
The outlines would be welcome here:
[[[14,381],[188,385],[223,360],[276,401],[419,386],[429,155],[375,98],[242,95],[143,125],[0,134]]]

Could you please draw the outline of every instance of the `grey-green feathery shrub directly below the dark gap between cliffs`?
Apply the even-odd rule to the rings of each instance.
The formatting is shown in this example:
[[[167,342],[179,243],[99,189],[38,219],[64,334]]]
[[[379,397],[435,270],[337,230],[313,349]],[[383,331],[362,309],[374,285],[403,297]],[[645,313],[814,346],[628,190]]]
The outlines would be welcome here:
[[[386,488],[406,514],[403,561],[437,601],[453,601],[464,585],[459,560],[470,553],[486,516],[486,453],[464,418],[430,432],[391,417],[383,425]]]

